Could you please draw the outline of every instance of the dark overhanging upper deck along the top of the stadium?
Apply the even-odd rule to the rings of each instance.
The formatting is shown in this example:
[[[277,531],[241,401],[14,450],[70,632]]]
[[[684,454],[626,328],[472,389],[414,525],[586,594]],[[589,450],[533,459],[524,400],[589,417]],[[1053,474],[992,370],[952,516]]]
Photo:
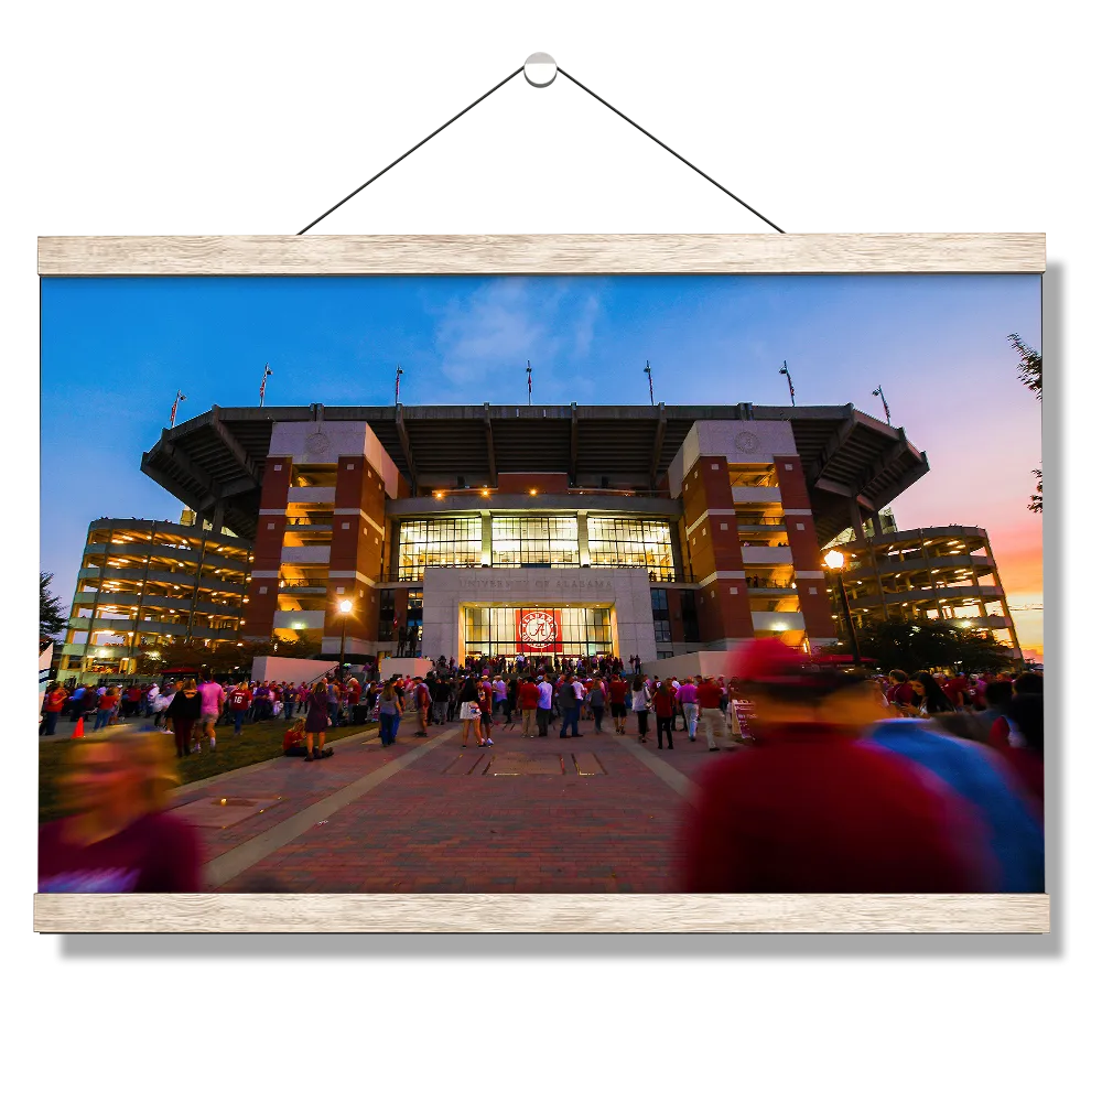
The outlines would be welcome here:
[[[495,485],[500,472],[565,472],[653,489],[696,421],[789,421],[820,543],[884,508],[929,464],[901,429],[850,406],[217,406],[165,429],[141,469],[188,508],[256,537],[278,421],[366,421],[410,486]]]

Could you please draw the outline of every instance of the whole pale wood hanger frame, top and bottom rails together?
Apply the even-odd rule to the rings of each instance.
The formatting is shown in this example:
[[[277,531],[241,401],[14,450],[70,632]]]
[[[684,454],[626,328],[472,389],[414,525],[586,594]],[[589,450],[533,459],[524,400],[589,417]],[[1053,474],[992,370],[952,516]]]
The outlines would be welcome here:
[[[1035,274],[1046,230],[46,233],[40,277]],[[1048,895],[39,895],[62,931],[1051,932]],[[32,917],[33,916],[33,917]]]

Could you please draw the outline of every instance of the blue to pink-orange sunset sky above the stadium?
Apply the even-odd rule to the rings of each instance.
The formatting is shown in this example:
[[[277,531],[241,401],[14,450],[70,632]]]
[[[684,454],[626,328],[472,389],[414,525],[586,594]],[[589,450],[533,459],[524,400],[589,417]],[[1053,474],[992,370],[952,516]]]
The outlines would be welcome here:
[[[853,402],[922,449],[930,473],[893,503],[900,528],[988,532],[1026,657],[1042,653],[1040,402],[1007,334],[1040,349],[1025,276],[485,279],[45,279],[40,564],[68,607],[88,523],[177,520],[141,474],[176,389],[176,423],[212,404],[536,401]]]

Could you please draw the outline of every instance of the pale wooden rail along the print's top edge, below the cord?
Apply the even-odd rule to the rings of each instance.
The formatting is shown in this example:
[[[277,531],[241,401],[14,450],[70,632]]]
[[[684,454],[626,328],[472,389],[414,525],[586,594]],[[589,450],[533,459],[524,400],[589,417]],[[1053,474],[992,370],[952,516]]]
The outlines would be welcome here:
[[[1033,274],[1048,231],[42,233],[41,277]]]

